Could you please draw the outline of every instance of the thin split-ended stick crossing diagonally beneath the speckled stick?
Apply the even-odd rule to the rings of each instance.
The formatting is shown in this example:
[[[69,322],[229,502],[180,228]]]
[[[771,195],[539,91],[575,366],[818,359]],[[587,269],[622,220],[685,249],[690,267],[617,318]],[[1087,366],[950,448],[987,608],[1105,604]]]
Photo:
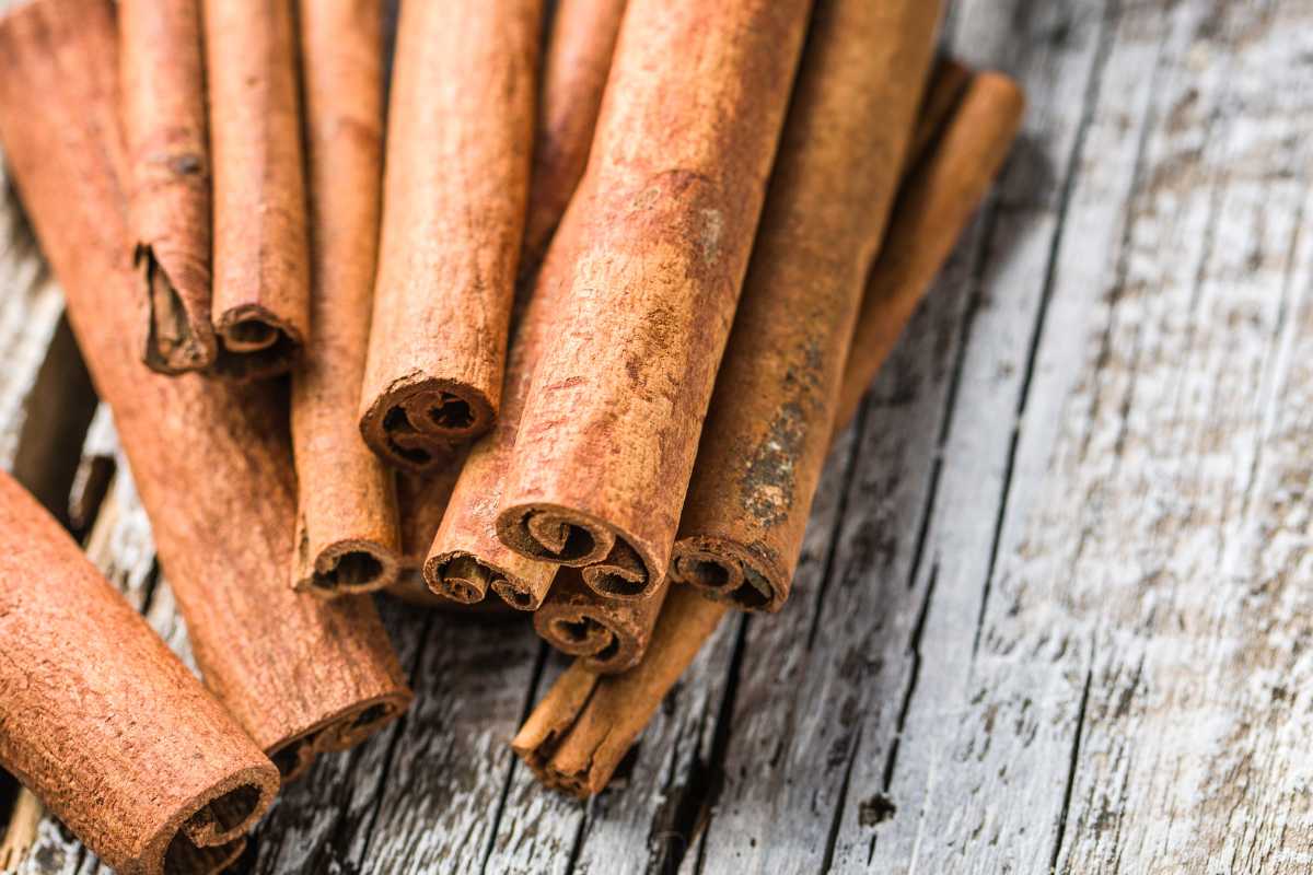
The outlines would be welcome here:
[[[894,273],[889,265],[943,265],[943,237],[952,240],[961,234],[983,195],[982,188],[962,185],[961,177],[990,178],[997,173],[1015,138],[1022,108],[1022,93],[1007,77],[982,73],[973,80],[941,139],[903,186],[885,251],[867,283],[857,335],[897,335],[906,323],[907,302],[924,294],[928,278],[922,269]],[[949,201],[956,198],[961,201],[949,209]],[[918,202],[936,206],[927,211],[914,206]],[[927,222],[923,214],[928,213],[944,223]],[[890,249],[894,241],[907,248]],[[894,275],[916,285],[894,286]],[[872,295],[898,306],[871,306]],[[876,331],[872,323],[880,319],[889,321]],[[850,382],[859,379],[860,384]],[[867,380],[865,366],[850,369],[842,392],[860,396]],[[638,666],[616,677],[599,677],[583,662],[572,665],[520,728],[512,743],[516,753],[549,786],[580,796],[599,792],[725,613],[725,602],[705,600],[689,586],[674,588]]]

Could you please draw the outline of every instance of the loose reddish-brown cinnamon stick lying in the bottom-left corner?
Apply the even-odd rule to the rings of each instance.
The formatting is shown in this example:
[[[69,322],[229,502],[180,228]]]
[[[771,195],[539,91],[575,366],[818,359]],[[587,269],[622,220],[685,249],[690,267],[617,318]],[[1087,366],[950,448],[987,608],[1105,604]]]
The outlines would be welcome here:
[[[104,862],[205,872],[232,857],[278,770],[4,472],[0,640],[0,765]]]

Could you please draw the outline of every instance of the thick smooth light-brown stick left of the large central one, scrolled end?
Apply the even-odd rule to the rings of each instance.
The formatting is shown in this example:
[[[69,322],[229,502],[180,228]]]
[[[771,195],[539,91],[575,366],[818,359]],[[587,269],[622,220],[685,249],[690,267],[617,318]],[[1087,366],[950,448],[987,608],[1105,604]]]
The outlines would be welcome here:
[[[407,471],[492,426],[533,143],[541,0],[406,3],[360,428]]]

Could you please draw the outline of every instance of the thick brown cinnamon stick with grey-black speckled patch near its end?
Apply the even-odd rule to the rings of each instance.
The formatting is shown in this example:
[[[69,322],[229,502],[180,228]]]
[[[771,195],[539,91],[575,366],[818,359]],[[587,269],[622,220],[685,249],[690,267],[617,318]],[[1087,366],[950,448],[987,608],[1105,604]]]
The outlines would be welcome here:
[[[789,596],[940,5],[821,0],[813,16],[670,568],[743,610]]]

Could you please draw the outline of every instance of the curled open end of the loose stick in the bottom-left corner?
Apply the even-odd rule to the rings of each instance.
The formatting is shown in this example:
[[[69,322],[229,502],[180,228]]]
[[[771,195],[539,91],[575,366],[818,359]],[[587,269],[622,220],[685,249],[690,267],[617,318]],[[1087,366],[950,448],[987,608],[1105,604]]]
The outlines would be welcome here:
[[[278,773],[268,762],[228,775],[165,824],[150,842],[142,871],[192,875],[227,868],[277,792]]]

